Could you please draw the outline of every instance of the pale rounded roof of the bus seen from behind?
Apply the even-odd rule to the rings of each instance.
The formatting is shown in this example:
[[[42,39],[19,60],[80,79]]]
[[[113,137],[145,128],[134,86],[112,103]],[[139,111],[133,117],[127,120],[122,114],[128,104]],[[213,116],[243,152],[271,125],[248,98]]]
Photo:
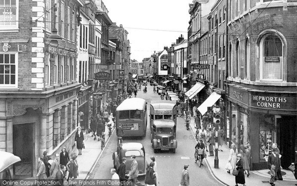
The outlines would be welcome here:
[[[117,108],[116,111],[126,110],[145,110],[146,100],[142,98],[129,98],[125,99]]]

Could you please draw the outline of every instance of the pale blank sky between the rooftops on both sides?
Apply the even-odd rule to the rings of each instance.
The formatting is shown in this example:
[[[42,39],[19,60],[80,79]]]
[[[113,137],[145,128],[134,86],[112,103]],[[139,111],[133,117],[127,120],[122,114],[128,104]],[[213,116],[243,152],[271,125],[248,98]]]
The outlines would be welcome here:
[[[192,0],[103,0],[112,22],[129,32],[131,60],[142,61],[153,51],[187,39]]]

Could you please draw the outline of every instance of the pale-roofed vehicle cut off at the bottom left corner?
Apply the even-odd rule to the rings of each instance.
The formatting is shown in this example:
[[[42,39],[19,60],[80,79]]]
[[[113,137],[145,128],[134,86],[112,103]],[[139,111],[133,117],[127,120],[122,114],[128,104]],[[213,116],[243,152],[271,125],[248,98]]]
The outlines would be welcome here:
[[[0,151],[0,180],[13,181],[13,164],[21,161],[18,156]],[[0,186],[3,184],[0,183]]]

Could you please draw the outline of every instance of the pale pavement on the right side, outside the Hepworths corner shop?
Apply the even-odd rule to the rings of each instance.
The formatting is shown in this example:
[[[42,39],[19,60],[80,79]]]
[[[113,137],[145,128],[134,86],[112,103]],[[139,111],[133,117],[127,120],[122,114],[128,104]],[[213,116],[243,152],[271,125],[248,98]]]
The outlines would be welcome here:
[[[195,128],[195,118],[191,117],[190,128],[193,132],[193,136],[195,137],[196,128]],[[214,168],[214,158],[215,156],[208,156],[209,153],[206,152],[207,158],[204,159],[204,165],[206,163],[211,175],[221,184],[225,186],[235,186],[235,176],[227,173],[225,169],[226,164],[228,163],[230,149],[224,144],[223,151],[218,152],[219,159],[219,168]],[[294,174],[290,170],[282,169],[283,181],[276,181],[274,184],[276,186],[294,186],[297,184],[297,180],[294,177]],[[270,174],[268,169],[259,170],[259,171],[250,171],[249,177],[245,175],[246,186],[270,186]]]

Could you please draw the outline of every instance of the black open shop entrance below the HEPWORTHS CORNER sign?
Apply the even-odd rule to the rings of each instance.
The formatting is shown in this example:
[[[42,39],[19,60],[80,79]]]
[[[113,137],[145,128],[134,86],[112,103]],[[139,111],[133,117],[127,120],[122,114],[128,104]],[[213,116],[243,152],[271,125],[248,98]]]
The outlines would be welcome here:
[[[288,168],[292,162],[295,162],[296,120],[297,117],[291,116],[277,118],[279,129],[277,144],[281,151],[281,163],[284,169]]]

